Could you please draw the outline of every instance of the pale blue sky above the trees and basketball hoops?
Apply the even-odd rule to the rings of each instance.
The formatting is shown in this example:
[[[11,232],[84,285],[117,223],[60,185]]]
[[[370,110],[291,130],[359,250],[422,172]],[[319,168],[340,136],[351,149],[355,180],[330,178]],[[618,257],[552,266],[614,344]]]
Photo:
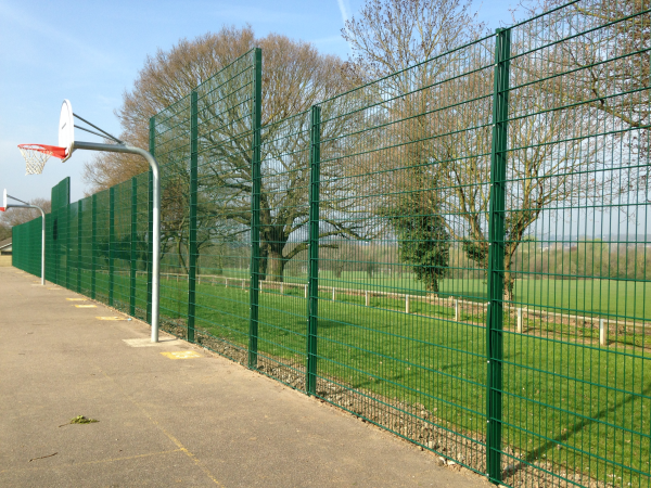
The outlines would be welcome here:
[[[84,196],[77,151],[65,164],[51,158],[42,175],[25,176],[21,143],[56,144],[61,102],[111,133],[120,132],[120,106],[148,54],[170,49],[222,25],[251,24],[257,36],[279,33],[312,42],[324,53],[348,56],[344,18],[365,0],[283,1],[5,1],[0,0],[0,191],[22,200],[50,196],[69,176],[72,198]],[[516,0],[477,2],[489,28],[510,24]],[[85,140],[99,140],[85,136]]]

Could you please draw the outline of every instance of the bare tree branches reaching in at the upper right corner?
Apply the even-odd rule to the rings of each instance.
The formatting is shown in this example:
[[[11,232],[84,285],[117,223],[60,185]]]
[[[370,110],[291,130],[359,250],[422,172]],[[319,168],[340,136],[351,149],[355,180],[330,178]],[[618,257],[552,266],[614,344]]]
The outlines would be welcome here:
[[[566,3],[535,0],[535,15]],[[651,164],[651,15],[648,0],[583,0],[546,15],[542,28],[532,29],[542,42],[563,40],[546,60],[551,77],[540,88],[562,103],[589,104],[611,119],[614,137],[630,149],[631,159]],[[570,86],[569,86],[570,85]],[[631,165],[638,163],[631,162]],[[630,190],[646,189],[649,169],[631,171]]]

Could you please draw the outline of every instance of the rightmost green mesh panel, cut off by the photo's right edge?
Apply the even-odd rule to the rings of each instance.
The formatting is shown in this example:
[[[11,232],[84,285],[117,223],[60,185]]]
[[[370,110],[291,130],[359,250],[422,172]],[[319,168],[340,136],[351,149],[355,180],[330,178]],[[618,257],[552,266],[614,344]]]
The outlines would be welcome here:
[[[502,468],[512,485],[650,483],[648,8],[579,2],[511,29]]]

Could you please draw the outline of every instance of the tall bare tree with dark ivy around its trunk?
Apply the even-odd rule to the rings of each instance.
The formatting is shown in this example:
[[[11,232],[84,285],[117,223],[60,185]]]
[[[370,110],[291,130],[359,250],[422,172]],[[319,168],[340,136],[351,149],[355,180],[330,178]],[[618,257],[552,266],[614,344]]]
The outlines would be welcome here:
[[[376,129],[382,133],[376,139],[393,147],[366,163],[366,193],[383,201],[378,213],[398,239],[399,259],[411,264],[435,293],[447,272],[450,235],[442,215],[443,193],[436,190],[445,178],[438,174],[443,159],[432,124],[445,99],[430,87],[468,62],[467,52],[454,49],[484,28],[471,5],[460,0],[369,0],[342,30],[353,50],[347,65],[352,76],[380,79],[368,88],[384,113],[386,128]],[[383,178],[386,171],[391,176]]]

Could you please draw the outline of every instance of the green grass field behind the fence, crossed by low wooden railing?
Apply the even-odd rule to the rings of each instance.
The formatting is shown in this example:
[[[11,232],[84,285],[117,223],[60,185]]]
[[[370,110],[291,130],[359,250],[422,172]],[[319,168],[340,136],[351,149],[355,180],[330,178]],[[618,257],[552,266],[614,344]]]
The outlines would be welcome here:
[[[72,273],[74,274],[74,273]],[[346,275],[323,286],[376,286],[386,279]],[[74,280],[73,280],[74,281]],[[90,273],[81,273],[82,293]],[[108,277],[97,274],[97,297],[107,300]],[[455,295],[480,295],[481,280],[450,280]],[[525,286],[526,285],[526,286]],[[465,286],[465,288],[463,288]],[[384,290],[383,290],[384,288]],[[401,292],[409,286],[398,287]],[[73,290],[75,287],[73,286]],[[471,290],[472,293],[467,291]],[[116,275],[114,306],[128,311],[128,279]],[[284,294],[268,290],[259,297],[259,352],[292,364],[305,363],[307,300],[303,288],[286,286]],[[88,293],[87,293],[88,294]],[[176,324],[187,318],[186,281],[163,280],[162,320]],[[644,283],[537,281],[519,283],[518,301],[539,307],[563,307],[582,313],[611,313],[647,319],[649,285]],[[233,345],[248,344],[248,288],[202,283],[196,288],[196,322],[201,333]],[[449,307],[414,303],[404,312],[404,300],[339,294],[331,300],[320,293],[318,374],[383,399],[422,404],[454,432],[481,441],[485,435],[486,329],[483,308],[464,309],[454,321]],[[598,299],[599,298],[599,299]],[[137,304],[146,304],[144,277],[137,280]],[[599,307],[585,310],[586,305]],[[579,306],[580,305],[580,306]],[[585,308],[584,308],[585,307]],[[429,317],[424,317],[429,316]],[[525,454],[527,462],[549,460],[605,479],[622,477],[622,486],[646,485],[651,451],[651,359],[642,334],[633,341],[599,347],[593,329],[527,321],[531,334],[516,334],[507,317],[503,334],[503,440]],[[640,343],[641,337],[641,343]],[[604,461],[610,460],[610,461]],[[505,461],[508,462],[508,461]],[[617,464],[627,466],[617,467]],[[631,471],[633,470],[633,471]],[[634,471],[639,471],[636,475]],[[618,480],[617,480],[618,481]],[[626,481],[626,483],[624,483]]]

